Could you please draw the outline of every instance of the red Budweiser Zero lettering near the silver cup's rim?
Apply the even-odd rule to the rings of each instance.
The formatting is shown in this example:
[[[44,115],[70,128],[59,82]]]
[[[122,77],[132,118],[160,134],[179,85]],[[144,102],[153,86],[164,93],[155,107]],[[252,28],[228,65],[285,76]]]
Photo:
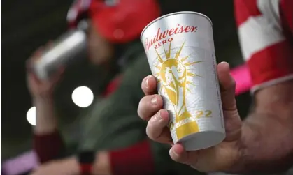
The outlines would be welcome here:
[[[153,38],[145,39],[145,51],[148,52],[150,47],[154,45],[155,49],[166,44],[167,42],[171,42],[173,38],[169,36],[173,36],[174,34],[179,33],[192,33],[197,31],[197,26],[182,26],[177,24],[175,28],[167,29],[166,31],[161,31],[161,28],[157,30],[157,35]],[[167,38],[168,37],[168,38]]]

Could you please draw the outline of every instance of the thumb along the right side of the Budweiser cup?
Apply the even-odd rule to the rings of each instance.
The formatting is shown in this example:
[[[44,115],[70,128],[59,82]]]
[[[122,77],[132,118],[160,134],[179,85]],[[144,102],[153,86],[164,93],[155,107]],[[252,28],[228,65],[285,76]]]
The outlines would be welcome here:
[[[221,87],[222,108],[226,141],[238,139],[241,135],[241,119],[238,114],[235,100],[235,80],[231,77],[230,66],[226,62],[217,65],[217,75]]]

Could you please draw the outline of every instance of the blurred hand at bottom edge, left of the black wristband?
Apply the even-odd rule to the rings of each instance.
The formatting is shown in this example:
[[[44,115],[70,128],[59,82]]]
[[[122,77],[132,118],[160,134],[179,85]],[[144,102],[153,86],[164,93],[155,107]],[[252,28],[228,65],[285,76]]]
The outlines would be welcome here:
[[[31,175],[78,175],[79,167],[76,158],[55,160],[38,167]]]

